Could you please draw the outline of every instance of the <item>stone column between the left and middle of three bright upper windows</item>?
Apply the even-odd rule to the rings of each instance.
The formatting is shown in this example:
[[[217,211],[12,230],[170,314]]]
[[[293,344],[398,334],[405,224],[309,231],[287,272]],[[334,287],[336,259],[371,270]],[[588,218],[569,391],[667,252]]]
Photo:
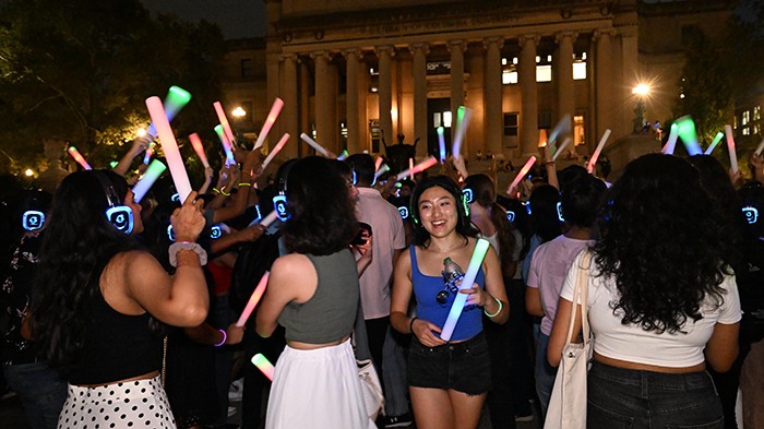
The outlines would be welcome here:
[[[536,46],[539,37],[523,35],[517,38],[521,52],[517,70],[520,94],[523,102],[520,109],[521,156],[538,155],[538,93],[536,85]]]

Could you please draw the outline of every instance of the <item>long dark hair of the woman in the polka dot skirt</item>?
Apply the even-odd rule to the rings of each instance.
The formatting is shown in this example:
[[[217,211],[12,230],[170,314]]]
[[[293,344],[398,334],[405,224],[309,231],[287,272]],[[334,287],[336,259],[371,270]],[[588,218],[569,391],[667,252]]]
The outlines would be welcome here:
[[[84,345],[100,269],[115,254],[139,248],[106,218],[106,191],[96,175],[106,175],[120,203],[124,200],[128,183],[112,171],[67,176],[53,195],[37,265],[33,334],[43,355],[64,369],[76,360]]]

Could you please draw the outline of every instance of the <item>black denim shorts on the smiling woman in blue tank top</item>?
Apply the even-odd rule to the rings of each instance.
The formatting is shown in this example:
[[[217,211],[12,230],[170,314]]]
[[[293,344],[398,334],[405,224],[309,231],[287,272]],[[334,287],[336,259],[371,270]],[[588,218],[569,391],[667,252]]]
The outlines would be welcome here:
[[[438,347],[426,347],[413,337],[407,365],[406,379],[413,388],[453,389],[468,395],[491,388],[491,359],[482,332]]]

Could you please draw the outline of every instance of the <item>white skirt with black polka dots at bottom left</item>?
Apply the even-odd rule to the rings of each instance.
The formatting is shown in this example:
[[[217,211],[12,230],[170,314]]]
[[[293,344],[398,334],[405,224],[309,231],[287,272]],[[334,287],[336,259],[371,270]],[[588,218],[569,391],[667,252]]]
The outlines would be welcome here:
[[[155,377],[97,388],[69,384],[58,429],[69,428],[175,429],[176,425],[159,377]]]

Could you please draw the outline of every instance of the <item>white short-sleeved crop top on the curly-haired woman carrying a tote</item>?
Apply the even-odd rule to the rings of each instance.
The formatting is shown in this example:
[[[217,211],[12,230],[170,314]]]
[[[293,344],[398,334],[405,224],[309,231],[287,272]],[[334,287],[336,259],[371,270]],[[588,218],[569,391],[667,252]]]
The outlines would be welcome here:
[[[561,296],[569,301],[573,300],[580,260],[581,255],[571,265],[562,286]],[[598,269],[594,260],[592,263],[587,311],[592,332],[596,337],[594,349],[602,356],[669,368],[691,367],[705,360],[703,350],[714,333],[716,323],[732,324],[742,318],[738,286],[735,276],[731,275],[725,276],[720,285],[725,290],[724,303],[715,309],[713,298],[707,298],[701,306],[703,319],[697,322],[689,319],[682,327],[687,334],[657,334],[635,324],[624,325],[621,323],[623,311],[619,309],[613,314],[610,307],[610,302],[618,299],[614,278],[596,276]]]

